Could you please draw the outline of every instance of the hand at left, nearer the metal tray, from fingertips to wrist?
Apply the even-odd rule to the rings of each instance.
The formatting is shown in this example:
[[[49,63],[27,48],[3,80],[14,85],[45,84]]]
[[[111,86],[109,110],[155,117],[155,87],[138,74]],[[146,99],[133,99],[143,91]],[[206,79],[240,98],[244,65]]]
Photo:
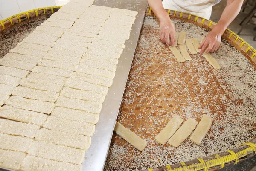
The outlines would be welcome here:
[[[171,38],[171,44],[169,43],[169,38]],[[167,16],[160,20],[160,40],[167,46],[174,46],[175,40],[175,27]]]

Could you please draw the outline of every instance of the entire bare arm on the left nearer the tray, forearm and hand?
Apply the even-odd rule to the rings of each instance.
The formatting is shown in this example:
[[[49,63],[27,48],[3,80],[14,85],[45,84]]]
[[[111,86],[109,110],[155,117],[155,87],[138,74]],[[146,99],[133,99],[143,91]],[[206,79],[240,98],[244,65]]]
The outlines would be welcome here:
[[[158,20],[160,21],[160,40],[167,46],[174,46],[175,42],[175,27],[170,20],[169,15],[163,8],[161,0],[148,0],[149,6],[156,14]],[[171,38],[171,44],[169,43],[169,38]]]

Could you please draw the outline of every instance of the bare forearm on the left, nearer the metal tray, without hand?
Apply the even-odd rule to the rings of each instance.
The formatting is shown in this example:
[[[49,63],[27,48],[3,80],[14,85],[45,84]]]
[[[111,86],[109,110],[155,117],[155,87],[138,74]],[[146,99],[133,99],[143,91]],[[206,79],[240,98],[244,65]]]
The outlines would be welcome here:
[[[163,8],[163,4],[161,0],[148,0],[148,3],[160,22],[166,19],[167,17],[169,18],[169,15],[167,14],[166,10]]]

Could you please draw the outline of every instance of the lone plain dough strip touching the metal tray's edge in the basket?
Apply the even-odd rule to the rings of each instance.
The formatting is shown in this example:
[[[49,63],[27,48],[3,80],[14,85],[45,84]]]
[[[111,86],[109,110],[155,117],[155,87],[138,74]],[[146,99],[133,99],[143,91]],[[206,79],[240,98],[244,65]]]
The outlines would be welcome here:
[[[147,146],[147,142],[137,136],[135,133],[131,132],[131,130],[128,130],[123,125],[121,125],[119,122],[116,122],[114,131],[121,136],[125,141],[130,143],[132,146],[134,146],[136,149],[143,151],[145,147]]]

